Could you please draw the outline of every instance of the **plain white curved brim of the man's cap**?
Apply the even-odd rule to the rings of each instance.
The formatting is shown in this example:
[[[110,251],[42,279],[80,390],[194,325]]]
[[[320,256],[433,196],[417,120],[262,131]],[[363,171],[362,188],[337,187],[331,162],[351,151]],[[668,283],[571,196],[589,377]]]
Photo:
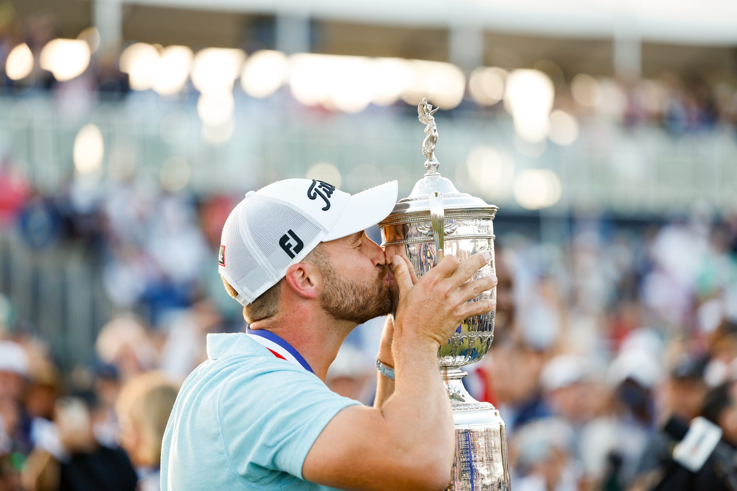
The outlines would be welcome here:
[[[353,194],[323,242],[340,239],[381,222],[397,204],[397,181]]]

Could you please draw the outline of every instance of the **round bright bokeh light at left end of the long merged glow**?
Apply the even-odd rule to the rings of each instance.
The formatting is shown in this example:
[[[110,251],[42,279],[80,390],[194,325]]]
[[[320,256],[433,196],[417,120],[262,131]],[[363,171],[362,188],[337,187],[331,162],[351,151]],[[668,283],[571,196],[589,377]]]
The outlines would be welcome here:
[[[248,57],[240,75],[245,93],[251,97],[268,97],[279,90],[289,76],[289,59],[278,51],[263,49]]]

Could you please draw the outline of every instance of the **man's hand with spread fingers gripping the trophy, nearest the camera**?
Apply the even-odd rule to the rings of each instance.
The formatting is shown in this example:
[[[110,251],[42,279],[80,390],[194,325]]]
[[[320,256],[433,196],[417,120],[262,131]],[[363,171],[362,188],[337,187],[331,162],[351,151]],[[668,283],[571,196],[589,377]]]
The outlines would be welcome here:
[[[407,263],[395,255],[394,278],[399,286],[395,341],[401,337],[441,345],[467,317],[494,310],[493,299],[467,303],[496,286],[496,276],[467,281],[490,259],[488,252],[472,255],[463,262],[447,255],[413,285]]]

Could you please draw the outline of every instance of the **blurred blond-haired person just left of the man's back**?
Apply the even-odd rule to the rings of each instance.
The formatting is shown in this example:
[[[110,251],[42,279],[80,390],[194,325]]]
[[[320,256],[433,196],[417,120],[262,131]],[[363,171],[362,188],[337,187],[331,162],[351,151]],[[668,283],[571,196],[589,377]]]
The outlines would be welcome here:
[[[158,491],[161,439],[178,388],[159,372],[138,375],[123,386],[116,404],[120,445],[136,467],[136,491]]]

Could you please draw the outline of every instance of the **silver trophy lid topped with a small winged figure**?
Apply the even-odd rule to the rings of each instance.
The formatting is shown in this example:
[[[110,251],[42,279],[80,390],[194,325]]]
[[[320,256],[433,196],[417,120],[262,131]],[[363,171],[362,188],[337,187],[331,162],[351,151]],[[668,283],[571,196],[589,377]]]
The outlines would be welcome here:
[[[438,127],[435,123],[433,114],[439,107],[433,109],[433,105],[422,98],[422,102],[417,105],[417,113],[419,121],[425,124],[425,141],[422,142],[422,153],[425,155],[425,170],[427,173],[422,179],[417,181],[410,195],[404,199],[399,199],[397,205],[394,206],[392,215],[399,213],[413,213],[414,211],[429,211],[430,194],[436,192],[442,194],[443,208],[445,210],[458,210],[468,208],[487,208],[496,210],[497,207],[489,205],[483,199],[473,197],[468,193],[461,193],[453,186],[453,183],[447,177],[442,177],[438,172],[440,166],[439,161],[435,157],[435,144],[438,141]]]

